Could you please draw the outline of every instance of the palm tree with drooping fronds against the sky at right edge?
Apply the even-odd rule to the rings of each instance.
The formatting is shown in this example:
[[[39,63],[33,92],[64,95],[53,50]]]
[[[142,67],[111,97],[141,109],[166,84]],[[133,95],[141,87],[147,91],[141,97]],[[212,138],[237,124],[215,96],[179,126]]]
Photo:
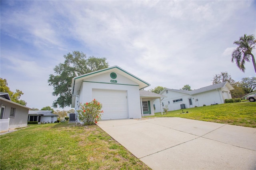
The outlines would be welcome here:
[[[250,62],[250,57],[252,57],[252,63],[256,73],[255,58],[252,54],[252,49],[254,49],[256,45],[254,34],[248,36],[244,34],[238,41],[234,41],[234,44],[238,45],[238,47],[232,52],[232,63],[236,61],[237,67],[244,72],[245,61]]]

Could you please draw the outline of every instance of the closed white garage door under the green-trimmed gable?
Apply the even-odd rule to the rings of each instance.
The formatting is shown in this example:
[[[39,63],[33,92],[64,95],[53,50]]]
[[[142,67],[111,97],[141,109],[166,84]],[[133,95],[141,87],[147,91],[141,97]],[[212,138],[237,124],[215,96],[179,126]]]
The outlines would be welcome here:
[[[102,120],[128,119],[126,91],[93,89],[92,98],[102,103]]]

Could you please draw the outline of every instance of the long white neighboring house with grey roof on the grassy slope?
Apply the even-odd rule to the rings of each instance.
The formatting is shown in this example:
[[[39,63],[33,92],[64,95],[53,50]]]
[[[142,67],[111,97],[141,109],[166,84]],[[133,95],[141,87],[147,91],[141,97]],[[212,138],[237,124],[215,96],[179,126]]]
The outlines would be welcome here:
[[[234,88],[227,81],[187,91],[164,89],[160,94],[167,96],[162,100],[162,108],[168,107],[169,111],[199,107],[203,105],[222,104],[225,99],[232,99],[230,90]],[[154,100],[155,112],[161,112],[159,100]]]

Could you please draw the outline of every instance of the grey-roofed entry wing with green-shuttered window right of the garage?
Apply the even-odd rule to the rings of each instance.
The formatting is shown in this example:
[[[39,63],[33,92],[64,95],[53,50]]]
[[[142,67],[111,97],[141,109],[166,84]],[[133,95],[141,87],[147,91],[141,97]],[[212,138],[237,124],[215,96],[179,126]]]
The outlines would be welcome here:
[[[159,100],[159,107],[160,107],[160,102],[162,99],[164,99],[163,96],[157,93],[153,93],[151,91],[146,91],[146,90],[140,90],[140,104],[141,104],[141,109],[142,109],[142,116],[152,116],[155,115],[155,104],[153,103],[154,100]],[[161,107],[160,107],[161,108]],[[162,113],[162,110],[160,111]]]

